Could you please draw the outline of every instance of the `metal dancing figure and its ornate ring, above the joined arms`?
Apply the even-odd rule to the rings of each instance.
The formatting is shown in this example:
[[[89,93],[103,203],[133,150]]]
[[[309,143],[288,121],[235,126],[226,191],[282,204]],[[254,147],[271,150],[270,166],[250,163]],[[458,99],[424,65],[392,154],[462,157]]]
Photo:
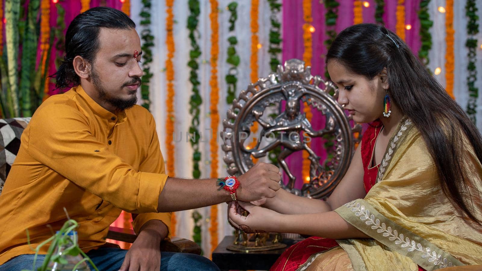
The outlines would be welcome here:
[[[333,82],[312,76],[311,68],[305,67],[305,63],[298,59],[286,61],[284,67],[278,66],[276,73],[249,84],[233,101],[227,111],[227,119],[223,120],[220,136],[224,143],[223,160],[227,164],[228,173],[239,176],[254,165],[253,157],[266,156],[269,150],[282,146],[277,159],[284,173],[289,176],[287,184],[281,182],[282,187],[309,198],[329,196],[347,172],[355,143],[359,143],[362,136],[361,125],[353,122],[351,115],[347,116],[337,102],[337,96],[338,90]],[[279,110],[281,101],[285,101],[284,110]],[[300,110],[300,101],[306,102],[311,108],[317,108],[325,117],[325,127],[322,130],[315,131],[312,128]],[[268,117],[265,111],[273,107],[278,110]],[[259,136],[251,135],[250,127],[254,122],[259,124]],[[243,132],[244,136],[241,136]],[[275,132],[278,133],[274,134]],[[268,141],[265,135],[269,133],[274,135],[270,137],[272,142],[265,144],[264,139]],[[304,133],[311,133],[311,139],[328,135],[327,138],[333,140],[333,147],[325,149],[327,157],[332,154],[331,161],[321,162],[320,157],[301,139],[300,135]],[[254,148],[247,149],[244,143],[252,136],[262,139],[258,140]],[[263,144],[266,146],[262,147]],[[295,177],[284,161],[299,150],[308,151],[310,160],[310,180],[301,190],[294,188]]]

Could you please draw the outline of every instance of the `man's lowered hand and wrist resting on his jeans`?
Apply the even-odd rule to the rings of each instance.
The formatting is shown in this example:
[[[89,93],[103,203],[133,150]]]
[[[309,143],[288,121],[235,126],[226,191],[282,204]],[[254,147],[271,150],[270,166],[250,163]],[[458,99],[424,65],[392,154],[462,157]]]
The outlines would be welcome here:
[[[120,271],[152,271],[161,269],[161,241],[167,227],[160,220],[149,220],[127,252]]]

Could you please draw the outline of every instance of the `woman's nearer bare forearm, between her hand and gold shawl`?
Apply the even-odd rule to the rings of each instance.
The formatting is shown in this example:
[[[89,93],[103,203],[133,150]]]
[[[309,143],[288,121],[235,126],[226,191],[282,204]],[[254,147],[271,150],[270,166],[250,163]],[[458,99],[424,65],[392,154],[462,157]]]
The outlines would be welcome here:
[[[280,232],[332,239],[370,238],[334,211],[318,214],[282,215]]]

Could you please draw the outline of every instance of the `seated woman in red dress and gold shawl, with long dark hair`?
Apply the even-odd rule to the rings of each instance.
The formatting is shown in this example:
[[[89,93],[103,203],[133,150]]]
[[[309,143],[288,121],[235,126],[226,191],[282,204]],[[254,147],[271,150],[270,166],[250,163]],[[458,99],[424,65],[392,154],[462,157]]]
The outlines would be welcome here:
[[[247,217],[231,203],[230,222],[318,236],[290,247],[272,270],[482,264],[482,139],[462,108],[380,25],[343,30],[326,63],[338,102],[355,122],[370,123],[346,175],[327,201],[279,190],[239,202]]]

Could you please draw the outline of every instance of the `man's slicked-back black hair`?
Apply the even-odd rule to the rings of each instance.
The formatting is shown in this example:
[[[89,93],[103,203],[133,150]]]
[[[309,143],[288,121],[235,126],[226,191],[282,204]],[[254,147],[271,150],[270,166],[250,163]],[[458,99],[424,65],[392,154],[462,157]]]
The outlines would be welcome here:
[[[56,88],[80,84],[73,60],[80,55],[91,63],[94,61],[101,27],[127,30],[134,29],[135,23],[125,13],[109,7],[96,7],[77,15],[67,28],[64,60],[54,74]]]

